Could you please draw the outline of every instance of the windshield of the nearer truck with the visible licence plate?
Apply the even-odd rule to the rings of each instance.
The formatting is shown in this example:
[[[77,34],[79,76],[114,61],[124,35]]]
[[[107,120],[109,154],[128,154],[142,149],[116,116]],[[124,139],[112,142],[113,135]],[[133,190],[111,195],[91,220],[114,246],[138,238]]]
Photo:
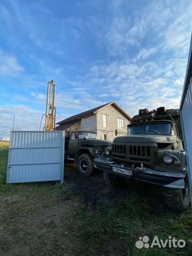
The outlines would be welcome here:
[[[173,126],[169,123],[165,124],[143,124],[137,126],[130,126],[127,134],[160,134],[160,135],[174,135]]]

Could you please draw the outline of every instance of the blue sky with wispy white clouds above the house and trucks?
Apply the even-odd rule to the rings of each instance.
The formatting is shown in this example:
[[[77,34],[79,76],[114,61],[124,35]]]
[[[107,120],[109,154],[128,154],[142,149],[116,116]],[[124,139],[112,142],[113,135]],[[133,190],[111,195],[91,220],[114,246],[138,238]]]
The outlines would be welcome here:
[[[12,115],[39,130],[51,79],[58,122],[111,101],[179,108],[191,15],[190,0],[1,0],[0,139]]]

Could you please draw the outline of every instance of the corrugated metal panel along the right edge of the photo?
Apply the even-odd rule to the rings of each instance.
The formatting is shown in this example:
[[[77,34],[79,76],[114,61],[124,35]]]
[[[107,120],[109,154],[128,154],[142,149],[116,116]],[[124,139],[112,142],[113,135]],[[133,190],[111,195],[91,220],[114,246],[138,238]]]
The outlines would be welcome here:
[[[181,97],[180,116],[183,141],[186,150],[187,166],[189,170],[190,195],[192,199],[192,36],[185,83]]]

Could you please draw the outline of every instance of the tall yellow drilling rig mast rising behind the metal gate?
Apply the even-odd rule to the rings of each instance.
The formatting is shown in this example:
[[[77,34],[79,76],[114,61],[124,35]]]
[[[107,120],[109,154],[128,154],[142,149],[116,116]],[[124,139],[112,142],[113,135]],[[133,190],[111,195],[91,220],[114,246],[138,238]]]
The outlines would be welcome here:
[[[45,131],[55,130],[55,84],[53,80],[47,84],[47,100],[46,100],[46,114],[45,114]]]

